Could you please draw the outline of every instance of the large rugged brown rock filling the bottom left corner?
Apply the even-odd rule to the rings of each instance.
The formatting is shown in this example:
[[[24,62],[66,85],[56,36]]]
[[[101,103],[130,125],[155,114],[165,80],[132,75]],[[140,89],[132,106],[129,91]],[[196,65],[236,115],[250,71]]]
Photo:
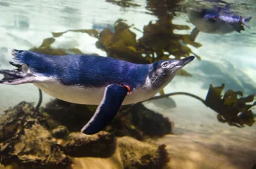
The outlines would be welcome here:
[[[47,130],[47,118],[22,102],[0,121],[0,163],[19,168],[65,168],[70,158]]]

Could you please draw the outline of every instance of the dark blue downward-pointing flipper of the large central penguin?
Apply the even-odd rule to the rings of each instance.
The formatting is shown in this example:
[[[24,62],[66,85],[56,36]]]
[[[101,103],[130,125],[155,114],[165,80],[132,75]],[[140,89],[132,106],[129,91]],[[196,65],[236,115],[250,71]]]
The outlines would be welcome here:
[[[86,135],[93,135],[105,128],[113,117],[115,117],[128,91],[129,89],[122,85],[108,85],[95,114],[81,129],[81,132]]]

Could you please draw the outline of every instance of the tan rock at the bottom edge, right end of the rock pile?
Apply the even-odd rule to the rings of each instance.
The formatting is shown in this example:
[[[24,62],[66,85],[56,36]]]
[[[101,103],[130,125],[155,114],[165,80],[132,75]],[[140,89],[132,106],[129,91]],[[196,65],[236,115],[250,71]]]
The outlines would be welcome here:
[[[159,169],[169,161],[165,145],[153,145],[124,136],[118,138],[122,162],[125,169]]]

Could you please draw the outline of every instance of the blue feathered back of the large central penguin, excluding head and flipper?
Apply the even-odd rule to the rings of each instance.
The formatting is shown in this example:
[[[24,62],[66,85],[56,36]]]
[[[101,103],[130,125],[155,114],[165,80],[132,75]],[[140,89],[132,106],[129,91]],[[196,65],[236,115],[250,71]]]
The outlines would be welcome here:
[[[55,77],[64,85],[84,87],[140,87],[145,84],[150,66],[95,55],[45,55],[28,50],[12,50],[12,54],[15,64],[28,64],[36,74]]]

